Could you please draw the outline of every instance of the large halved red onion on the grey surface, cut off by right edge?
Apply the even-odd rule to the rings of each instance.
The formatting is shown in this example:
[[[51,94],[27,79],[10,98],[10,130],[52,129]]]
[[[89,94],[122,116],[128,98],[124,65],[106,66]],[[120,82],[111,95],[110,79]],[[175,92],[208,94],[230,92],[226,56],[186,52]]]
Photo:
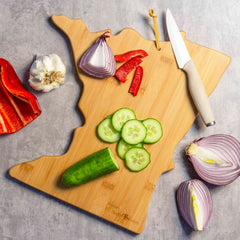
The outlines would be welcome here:
[[[226,185],[240,175],[240,142],[225,134],[194,140],[186,154],[197,174],[214,185]]]

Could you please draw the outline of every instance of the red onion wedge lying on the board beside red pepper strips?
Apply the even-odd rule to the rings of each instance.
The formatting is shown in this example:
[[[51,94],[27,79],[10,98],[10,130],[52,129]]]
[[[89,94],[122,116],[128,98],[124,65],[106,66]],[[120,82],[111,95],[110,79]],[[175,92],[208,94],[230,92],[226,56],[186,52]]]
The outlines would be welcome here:
[[[106,42],[105,32],[97,41],[83,54],[79,67],[87,74],[96,78],[107,78],[114,76],[116,72],[116,61],[111,48]]]

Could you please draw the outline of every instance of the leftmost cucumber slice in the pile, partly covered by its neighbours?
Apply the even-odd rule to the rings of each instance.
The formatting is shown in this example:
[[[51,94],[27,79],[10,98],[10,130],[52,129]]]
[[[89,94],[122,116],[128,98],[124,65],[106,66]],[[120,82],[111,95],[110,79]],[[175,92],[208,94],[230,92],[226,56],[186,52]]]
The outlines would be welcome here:
[[[117,142],[121,137],[121,134],[113,128],[112,119],[109,116],[98,124],[97,134],[101,140],[109,143]]]

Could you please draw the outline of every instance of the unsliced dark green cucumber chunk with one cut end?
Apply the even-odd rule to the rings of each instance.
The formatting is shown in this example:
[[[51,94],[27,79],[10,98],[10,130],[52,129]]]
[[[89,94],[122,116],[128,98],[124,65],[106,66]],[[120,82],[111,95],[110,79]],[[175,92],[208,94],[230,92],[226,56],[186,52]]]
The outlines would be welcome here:
[[[117,170],[119,170],[118,163],[107,147],[67,169],[62,176],[62,183],[68,187],[81,185]]]

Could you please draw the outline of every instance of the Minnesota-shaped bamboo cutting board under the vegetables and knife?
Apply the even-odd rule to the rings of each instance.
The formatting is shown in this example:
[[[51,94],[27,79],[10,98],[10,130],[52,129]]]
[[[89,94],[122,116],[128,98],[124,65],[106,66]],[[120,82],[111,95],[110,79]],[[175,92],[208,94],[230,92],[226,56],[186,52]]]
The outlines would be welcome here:
[[[174,168],[175,147],[197,115],[187,90],[186,76],[177,68],[169,42],[161,42],[161,51],[158,51],[153,41],[144,39],[133,29],[124,29],[116,36],[110,34],[107,42],[114,54],[134,49],[144,49],[149,54],[141,64],[143,81],[134,97],[128,93],[133,72],[126,83],[120,83],[114,77],[104,80],[91,78],[77,67],[84,51],[105,31],[90,33],[82,20],[72,20],[63,15],[54,15],[52,20],[69,37],[73,48],[78,75],[84,86],[79,108],[85,124],[75,130],[70,148],[64,155],[43,156],[24,162],[11,168],[9,173],[13,178],[58,199],[140,233],[144,229],[156,182],[163,172]],[[185,42],[210,95],[231,59],[186,39]],[[123,160],[117,157],[116,144],[104,143],[96,136],[98,123],[121,107],[133,109],[138,119],[156,118],[163,126],[162,139],[156,144],[145,145],[151,153],[151,163],[139,173],[130,172]],[[68,167],[107,146],[117,157],[120,171],[74,188],[61,185],[61,175]]]

